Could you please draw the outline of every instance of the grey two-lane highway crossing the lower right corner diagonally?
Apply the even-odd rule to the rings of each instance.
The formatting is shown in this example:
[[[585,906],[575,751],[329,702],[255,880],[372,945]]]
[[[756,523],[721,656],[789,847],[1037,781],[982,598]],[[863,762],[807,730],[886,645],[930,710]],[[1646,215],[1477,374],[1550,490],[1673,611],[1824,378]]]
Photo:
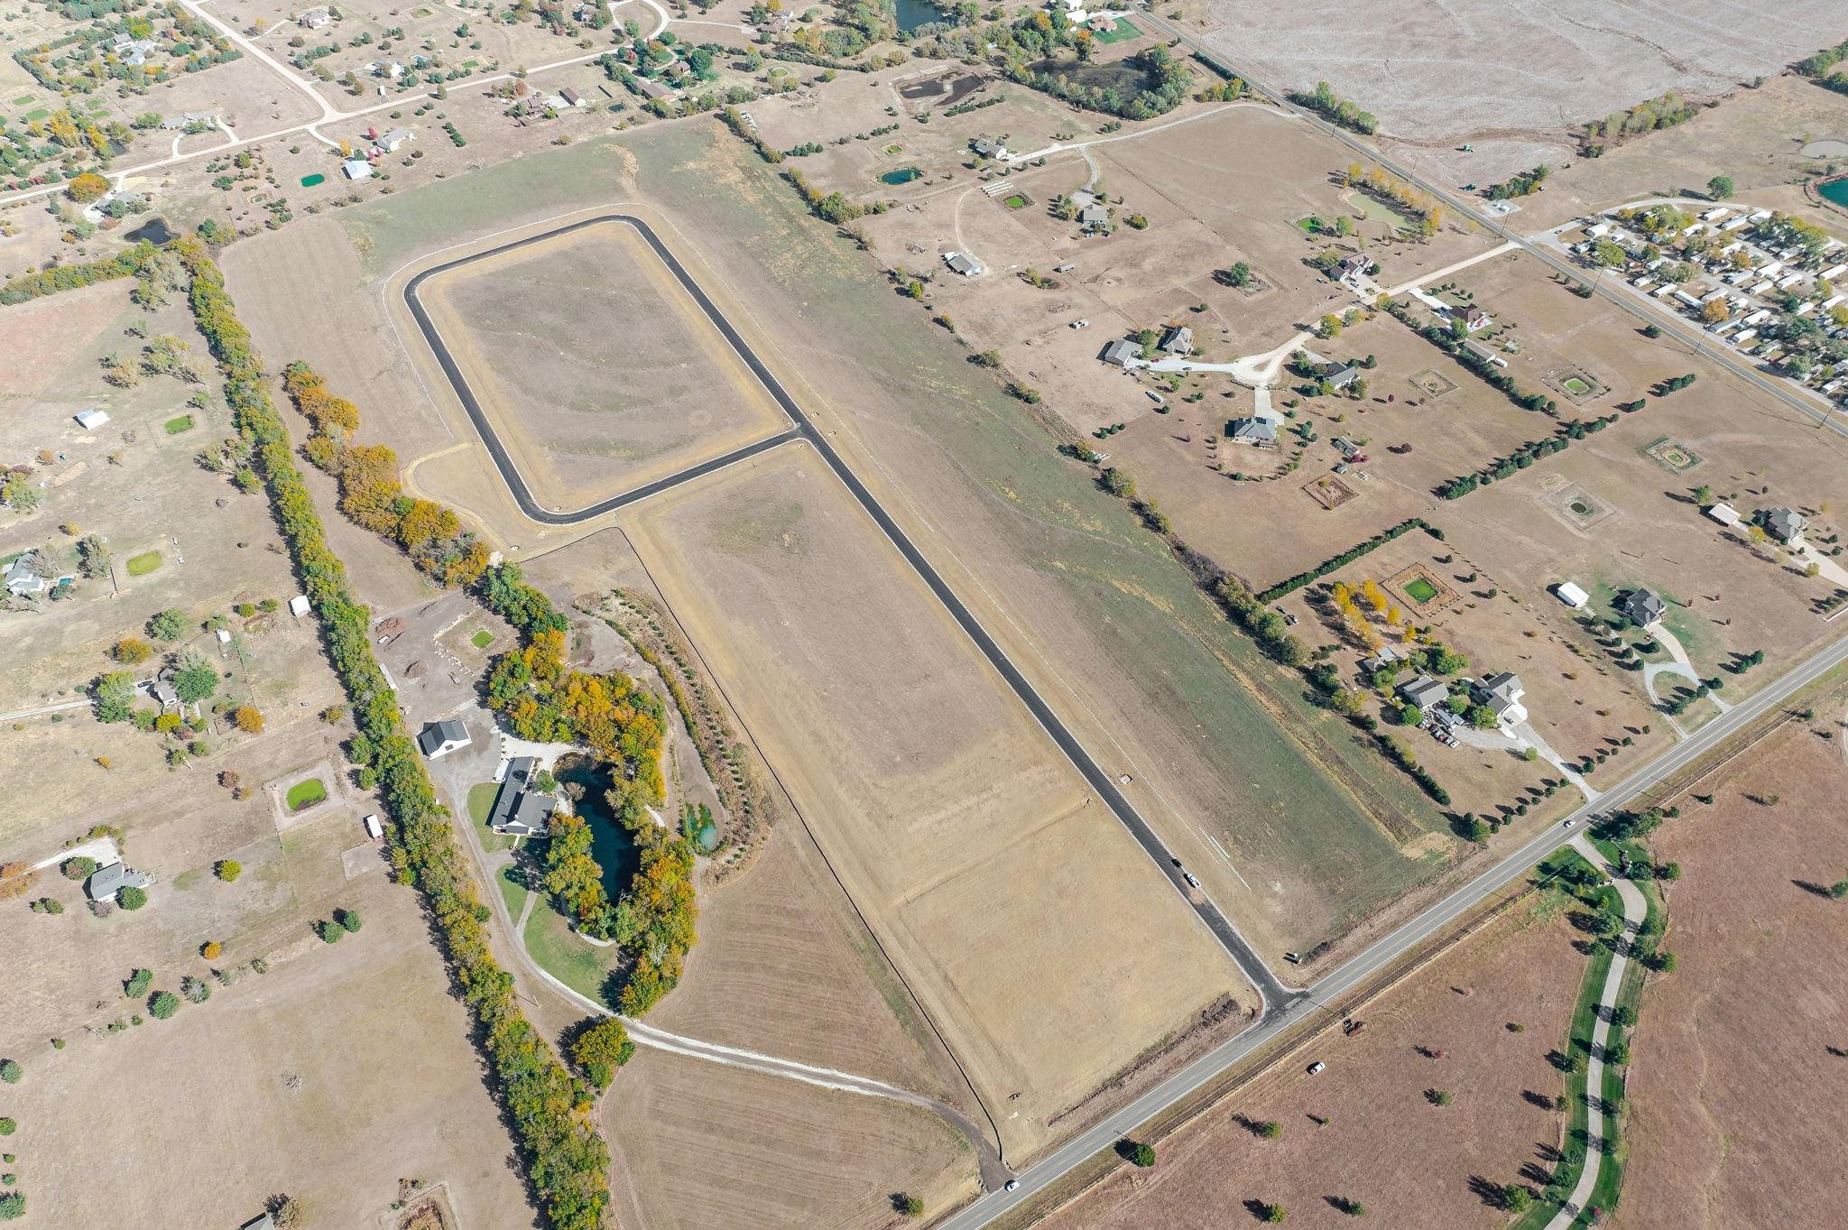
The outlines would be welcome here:
[[[1061,1149],[1046,1154],[1037,1164],[1020,1173],[1020,1188],[1016,1191],[996,1191],[978,1199],[968,1204],[954,1217],[939,1223],[939,1230],[976,1230],[978,1226],[989,1224],[992,1219],[1009,1212],[1022,1200],[1031,1199],[1042,1188],[1063,1178],[1072,1167],[1079,1165],[1096,1152],[1101,1152],[1114,1145],[1118,1140],[1133,1134],[1137,1127],[1148,1123],[1151,1117],[1181,1101],[1183,1097],[1194,1093],[1203,1084],[1216,1079],[1227,1067],[1251,1055],[1266,1042],[1273,1040],[1277,1034],[1303,1023],[1310,1016],[1327,1012],[1321,1005],[1336,995],[1353,990],[1366,979],[1373,977],[1388,964],[1397,960],[1403,953],[1423,944],[1434,933],[1449,927],[1456,918],[1469,912],[1480,905],[1486,898],[1497,890],[1508,886],[1512,881],[1525,875],[1541,859],[1556,851],[1584,831],[1587,818],[1593,813],[1604,813],[1615,807],[1623,807],[1632,802],[1641,792],[1654,787],[1663,778],[1669,778],[1682,768],[1693,765],[1720,741],[1724,741],[1733,731],[1741,730],[1763,713],[1776,709],[1785,700],[1789,700],[1796,691],[1817,681],[1835,667],[1848,661],[1848,639],[1842,639],[1830,648],[1809,657],[1794,670],[1780,678],[1776,683],[1769,685],[1765,691],[1754,694],[1739,705],[1728,709],[1722,717],[1715,718],[1695,733],[1685,742],[1669,748],[1654,761],[1648,761],[1628,778],[1617,781],[1613,787],[1599,796],[1597,803],[1587,803],[1571,814],[1571,827],[1556,824],[1541,835],[1534,837],[1530,842],[1510,853],[1506,859],[1497,862],[1493,868],[1469,881],[1451,896],[1430,905],[1425,912],[1414,916],[1410,922],[1403,923],[1397,931],[1392,931],[1373,946],[1362,949],[1358,955],[1342,962],[1327,977],[1308,988],[1308,994],[1292,1003],[1290,1007],[1268,1014],[1258,1025],[1238,1034],[1236,1038],[1222,1043],[1218,1049],[1209,1051],[1201,1058],[1194,1060],[1183,1067],[1173,1077],[1162,1080],[1159,1086],[1135,1099],[1120,1112],[1090,1128],[1083,1136],[1076,1136]],[[1340,1047],[1340,1040],[1332,1040],[1331,1047]],[[1325,1056],[1329,1062],[1340,1062],[1336,1051]]]

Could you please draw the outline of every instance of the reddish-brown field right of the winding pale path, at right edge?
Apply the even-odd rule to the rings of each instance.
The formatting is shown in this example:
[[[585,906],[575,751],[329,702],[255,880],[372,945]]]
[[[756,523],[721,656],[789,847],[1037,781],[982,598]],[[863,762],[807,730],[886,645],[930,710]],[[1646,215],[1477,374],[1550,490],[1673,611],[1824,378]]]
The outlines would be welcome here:
[[[1824,1049],[1842,1045],[1848,912],[1805,888],[1848,874],[1841,731],[1817,735],[1839,694],[1824,705],[1702,781],[1715,805],[1680,800],[1652,838],[1684,872],[1667,886],[1680,964],[1632,1042],[1624,1230],[1822,1226],[1848,1199],[1842,1171],[1817,1165],[1848,1134],[1848,1064]]]

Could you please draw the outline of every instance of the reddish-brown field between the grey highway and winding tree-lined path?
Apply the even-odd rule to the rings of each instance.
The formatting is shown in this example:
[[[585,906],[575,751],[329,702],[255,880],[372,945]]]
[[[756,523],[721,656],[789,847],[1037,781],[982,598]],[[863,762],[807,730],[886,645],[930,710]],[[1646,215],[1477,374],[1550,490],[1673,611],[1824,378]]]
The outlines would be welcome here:
[[[1560,1145],[1563,1115],[1523,1091],[1563,1090],[1545,1055],[1565,1038],[1584,971],[1573,935],[1550,910],[1515,907],[1364,1008],[1362,1032],[1343,1038],[1331,1025],[1162,1141],[1155,1169],[1124,1165],[1040,1224],[1257,1224],[1247,1200],[1283,1204],[1290,1224],[1347,1224],[1329,1197],[1360,1200],[1368,1223],[1388,1226],[1506,1224],[1473,1180],[1512,1182],[1523,1165],[1545,1167]],[[1327,1071],[1305,1075],[1312,1060]],[[1429,1104],[1430,1088],[1449,1091],[1453,1104]],[[1273,1119],[1283,1136],[1260,1140],[1240,1117]]]

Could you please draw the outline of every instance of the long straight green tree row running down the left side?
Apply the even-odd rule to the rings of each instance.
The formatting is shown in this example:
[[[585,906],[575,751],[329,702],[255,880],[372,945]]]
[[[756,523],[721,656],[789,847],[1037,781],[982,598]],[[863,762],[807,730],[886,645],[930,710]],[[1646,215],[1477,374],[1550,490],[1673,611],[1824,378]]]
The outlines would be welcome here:
[[[366,746],[379,798],[394,820],[392,866],[401,883],[423,890],[442,931],[545,1219],[556,1230],[595,1230],[610,1200],[610,1151],[590,1121],[591,1091],[565,1071],[521,1014],[512,975],[490,953],[490,910],[373,657],[370,611],[353,597],[340,558],[327,547],[314,499],[290,452],[288,428],[270,399],[262,360],[225,294],[224,275],[196,238],[177,240],[174,251],[192,275],[194,320],[224,371],[225,403],[251,443],[296,571],[320,617],[327,657],[351,700],[355,742]]]

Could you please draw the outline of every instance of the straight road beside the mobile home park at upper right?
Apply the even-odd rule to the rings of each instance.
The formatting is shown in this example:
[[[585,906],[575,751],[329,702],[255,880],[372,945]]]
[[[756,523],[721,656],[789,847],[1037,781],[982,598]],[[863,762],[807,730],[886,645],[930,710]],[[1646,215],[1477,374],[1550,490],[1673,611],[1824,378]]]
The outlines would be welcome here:
[[[1196,55],[1199,55],[1199,57],[1203,57],[1203,59],[1218,65],[1220,68],[1223,68],[1227,72],[1234,72],[1233,66],[1225,63],[1223,55],[1220,55],[1218,52],[1212,52],[1210,48],[1203,46],[1194,35],[1186,33],[1179,26],[1170,24],[1166,18],[1157,17],[1155,13],[1137,13],[1137,20],[1138,22],[1148,22],[1148,24],[1159,28],[1170,39],[1179,39],[1181,44],[1186,46]],[[1443,205],[1447,209],[1451,209],[1454,214],[1458,214],[1462,218],[1469,218],[1471,222],[1475,222],[1477,225],[1484,227],[1486,231],[1489,231],[1493,235],[1499,235],[1501,238],[1504,238],[1504,240],[1508,240],[1512,244],[1517,244],[1521,247],[1521,251],[1525,251],[1530,257],[1534,257],[1536,260],[1547,264],[1554,271],[1571,277],[1574,283],[1578,283],[1582,286],[1589,286],[1591,294],[1595,294],[1597,297],[1600,297],[1600,299],[1604,299],[1608,303],[1615,303],[1619,308],[1623,308],[1624,312],[1628,312],[1635,320],[1643,321],[1645,325],[1656,325],[1658,329],[1663,329],[1663,331],[1674,334],[1676,338],[1682,340],[1684,345],[1687,345],[1695,353],[1702,355],[1704,358],[1719,364],[1720,368],[1726,368],[1728,371],[1732,371],[1735,377],[1739,377],[1746,384],[1752,384],[1754,388],[1761,390],[1763,393],[1769,393],[1770,397],[1776,397],[1778,401],[1781,401],[1783,404],[1791,406],[1793,410],[1796,410],[1796,412],[1800,412],[1800,414],[1815,419],[1817,427],[1828,428],[1828,430],[1831,430],[1831,432],[1835,432],[1839,436],[1848,436],[1848,425],[1844,425],[1841,419],[1837,419],[1835,414],[1824,403],[1811,401],[1804,393],[1798,393],[1794,388],[1791,388],[1785,380],[1780,380],[1776,377],[1767,377],[1763,371],[1759,371],[1752,364],[1741,362],[1737,356],[1733,356],[1724,347],[1708,345],[1708,336],[1702,331],[1689,327],[1689,323],[1685,320],[1682,320],[1678,314],[1674,314],[1674,312],[1661,312],[1652,303],[1645,303],[1645,301],[1637,299],[1635,295],[1630,295],[1630,294],[1624,294],[1624,292],[1621,292],[1621,290],[1617,290],[1613,286],[1608,286],[1602,277],[1599,277],[1595,273],[1589,273],[1587,270],[1578,268],[1571,260],[1567,260],[1567,259],[1563,259],[1563,257],[1560,257],[1560,255],[1556,255],[1552,251],[1547,251],[1545,247],[1530,242],[1525,235],[1517,235],[1517,233],[1510,231],[1495,216],[1484,214],[1475,205],[1471,205],[1464,198],[1456,196],[1449,188],[1445,188],[1441,185],[1436,185],[1436,183],[1430,183],[1429,179],[1425,179],[1417,172],[1414,172],[1410,166],[1404,166],[1403,163],[1399,163],[1399,161],[1395,161],[1395,159],[1380,153],[1379,150],[1375,150],[1373,146],[1369,146],[1368,142],[1364,142],[1355,133],[1349,133],[1345,127],[1340,127],[1336,124],[1329,124],[1319,115],[1316,115],[1312,111],[1305,111],[1303,107],[1297,107],[1281,90],[1277,90],[1273,87],[1268,87],[1268,85],[1260,85],[1260,83],[1253,81],[1249,76],[1246,76],[1244,72],[1238,72],[1236,76],[1247,87],[1251,87],[1255,92],[1262,94],[1264,98],[1270,98],[1281,109],[1288,111],[1290,115],[1295,115],[1301,120],[1305,120],[1307,124],[1310,124],[1318,131],[1325,133],[1327,137],[1332,137],[1334,140],[1342,142],[1343,146],[1347,146],[1355,153],[1358,153],[1358,155],[1362,155],[1366,159],[1371,159],[1373,163],[1379,163],[1382,168],[1386,168],[1393,175],[1399,175],[1401,179],[1404,179],[1406,183],[1414,185],[1416,188],[1419,188],[1427,196],[1432,196],[1438,201],[1443,201]]]

